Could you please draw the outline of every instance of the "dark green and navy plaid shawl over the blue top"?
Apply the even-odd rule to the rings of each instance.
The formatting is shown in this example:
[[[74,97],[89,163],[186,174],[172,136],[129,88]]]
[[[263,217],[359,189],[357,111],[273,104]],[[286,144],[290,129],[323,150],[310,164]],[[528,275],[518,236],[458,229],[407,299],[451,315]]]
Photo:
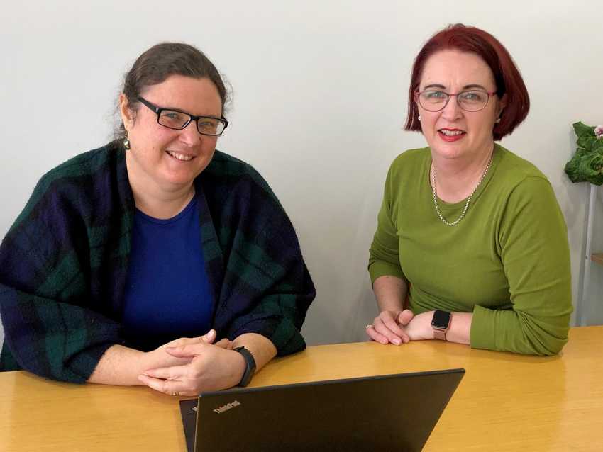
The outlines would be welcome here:
[[[218,338],[255,332],[279,355],[304,349],[314,284],[276,196],[219,151],[194,183]],[[84,383],[106,349],[128,345],[120,318],[134,209],[125,153],[112,143],[40,179],[0,247],[0,370]]]

